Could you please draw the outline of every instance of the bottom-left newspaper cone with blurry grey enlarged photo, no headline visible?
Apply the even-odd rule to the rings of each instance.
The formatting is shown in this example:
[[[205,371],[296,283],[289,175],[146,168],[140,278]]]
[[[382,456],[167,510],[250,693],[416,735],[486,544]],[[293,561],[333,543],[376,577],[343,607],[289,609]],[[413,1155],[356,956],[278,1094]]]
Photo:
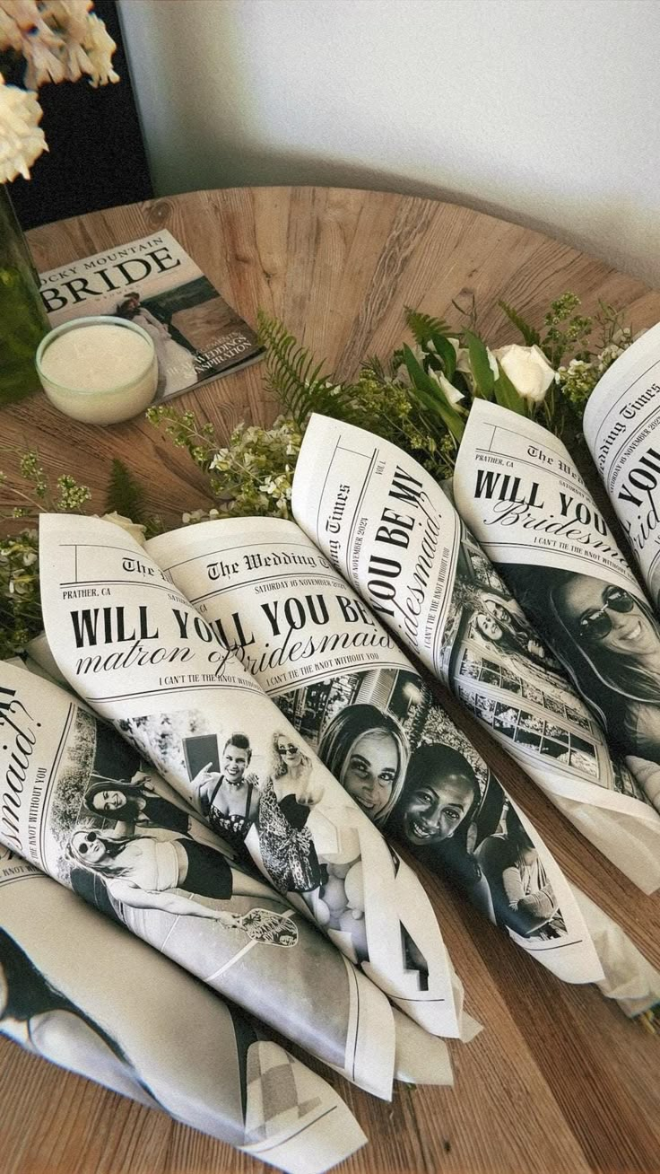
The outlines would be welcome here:
[[[263,1028],[6,848],[0,991],[0,1031],[21,1047],[291,1174],[366,1141]]]

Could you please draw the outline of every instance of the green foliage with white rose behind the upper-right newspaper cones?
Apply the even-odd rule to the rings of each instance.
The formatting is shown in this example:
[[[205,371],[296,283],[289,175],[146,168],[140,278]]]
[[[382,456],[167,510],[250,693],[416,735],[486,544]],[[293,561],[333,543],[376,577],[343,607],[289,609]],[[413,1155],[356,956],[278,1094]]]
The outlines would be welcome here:
[[[481,337],[474,298],[468,309],[455,303],[467,321],[462,328],[407,309],[406,325],[415,348],[403,344],[385,364],[369,359],[354,382],[345,383],[328,377],[326,365],[299,346],[281,322],[261,313],[268,386],[300,427],[312,412],[359,424],[400,445],[436,478],[453,471],[475,399],[537,418],[567,439],[576,433],[603,372],[632,343],[632,331],[624,326],[620,312],[604,303],[593,318],[581,315],[580,301],[571,292],[551,302],[540,329],[515,306],[498,304],[520,332],[526,352],[533,352],[530,358],[543,376],[540,393],[522,384],[518,390],[513,382],[517,375],[504,351],[516,351],[519,362],[520,348],[494,352]],[[599,349],[590,350],[594,332]]]

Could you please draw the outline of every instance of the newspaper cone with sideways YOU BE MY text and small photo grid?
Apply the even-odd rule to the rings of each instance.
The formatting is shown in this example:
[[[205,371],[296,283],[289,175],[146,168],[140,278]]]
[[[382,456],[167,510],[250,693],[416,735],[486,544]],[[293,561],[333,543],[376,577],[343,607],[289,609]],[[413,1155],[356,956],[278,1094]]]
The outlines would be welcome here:
[[[478,418],[483,406],[494,405],[474,406]],[[529,424],[508,416],[522,420],[520,427]],[[469,430],[470,423],[467,436]],[[320,475],[319,452],[327,453]],[[467,475],[475,464],[472,454]],[[509,487],[511,477],[512,470]],[[456,494],[460,483],[457,468]],[[375,614],[576,828],[653,892],[660,884],[658,812],[626,764],[611,755],[593,714],[433,478],[394,445],[314,417],[293,504],[299,522]]]

